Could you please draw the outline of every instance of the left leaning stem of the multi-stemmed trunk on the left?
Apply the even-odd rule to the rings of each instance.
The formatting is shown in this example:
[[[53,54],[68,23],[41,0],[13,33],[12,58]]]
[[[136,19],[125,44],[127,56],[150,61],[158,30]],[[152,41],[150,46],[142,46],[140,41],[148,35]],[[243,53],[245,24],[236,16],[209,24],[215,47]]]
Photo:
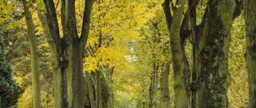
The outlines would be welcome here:
[[[47,43],[51,49],[51,65],[54,71],[54,107],[62,108],[68,107],[68,93],[67,93],[67,55],[64,54],[63,39],[60,39],[59,27],[56,10],[53,1],[44,1],[46,14],[42,14],[39,3],[37,3],[37,12],[40,22],[44,28],[44,34]],[[45,13],[45,12],[44,12]],[[51,19],[51,20],[49,20]]]

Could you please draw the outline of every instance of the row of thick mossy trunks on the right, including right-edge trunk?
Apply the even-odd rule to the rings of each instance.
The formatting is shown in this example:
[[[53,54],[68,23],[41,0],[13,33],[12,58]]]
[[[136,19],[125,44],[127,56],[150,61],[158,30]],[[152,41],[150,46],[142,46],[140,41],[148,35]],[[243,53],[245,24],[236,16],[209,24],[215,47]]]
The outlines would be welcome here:
[[[244,2],[244,4],[243,4]],[[190,24],[191,41],[193,41],[193,69],[187,70],[186,57],[182,52],[183,25],[182,11],[185,1],[178,1],[173,7],[173,16],[165,1],[164,13],[170,31],[170,46],[172,49],[172,62],[175,86],[175,107],[228,107],[227,90],[230,84],[228,73],[228,49],[230,47],[230,31],[233,20],[241,14],[244,7],[246,21],[246,64],[249,81],[249,107],[255,107],[253,81],[255,80],[255,35],[250,30],[255,27],[254,1],[207,1],[204,17],[200,24],[196,24],[196,4],[198,1],[189,1],[188,17]],[[254,7],[254,8],[253,8]],[[249,12],[250,11],[250,12]],[[250,19],[250,21],[248,20]],[[169,20],[169,21],[168,21]],[[188,26],[188,25],[187,25]],[[185,29],[186,30],[186,29]],[[253,40],[253,39],[254,40]],[[182,54],[183,53],[183,54]],[[184,58],[185,57],[185,58]],[[184,60],[185,59],[185,60]],[[249,62],[250,61],[250,62]],[[191,79],[190,79],[190,76]],[[190,83],[191,81],[191,83]],[[191,97],[191,102],[189,98]],[[186,99],[185,99],[186,98]]]

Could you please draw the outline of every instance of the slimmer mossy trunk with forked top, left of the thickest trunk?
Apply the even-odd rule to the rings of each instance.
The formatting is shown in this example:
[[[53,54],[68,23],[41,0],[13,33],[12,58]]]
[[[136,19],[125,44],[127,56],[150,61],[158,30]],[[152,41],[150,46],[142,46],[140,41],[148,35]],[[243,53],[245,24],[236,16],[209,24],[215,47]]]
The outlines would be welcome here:
[[[189,36],[189,18],[186,13],[183,21],[182,13],[185,1],[179,1],[179,8],[173,8],[174,14],[170,11],[170,1],[163,3],[164,15],[170,32],[170,44],[172,48],[173,71],[175,76],[175,107],[189,107],[190,98],[190,69],[185,53],[185,43]]]

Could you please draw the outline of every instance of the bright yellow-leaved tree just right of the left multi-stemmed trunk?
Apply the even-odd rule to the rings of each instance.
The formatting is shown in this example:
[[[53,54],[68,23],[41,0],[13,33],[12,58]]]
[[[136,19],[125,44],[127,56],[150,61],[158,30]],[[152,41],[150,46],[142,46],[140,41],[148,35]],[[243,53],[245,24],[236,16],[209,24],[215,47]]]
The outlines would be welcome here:
[[[139,11],[147,11],[147,8],[141,5],[143,1],[105,0],[97,2],[92,11],[94,14],[92,15],[92,28],[88,43],[86,43],[84,71],[92,72],[91,75],[95,76],[92,77],[95,79],[95,83],[92,83],[95,97],[93,94],[89,94],[92,105],[96,102],[96,105],[102,105],[102,107],[106,105],[113,107],[112,75],[113,72],[116,72],[114,69],[116,69],[115,67],[117,69],[124,67],[122,65],[127,62],[125,55],[128,52],[125,47],[129,46],[129,42],[136,41],[137,30],[145,22],[145,18],[141,17],[148,14]],[[104,83],[105,81],[102,81],[104,79],[108,79],[108,82]],[[90,84],[88,81],[86,83]],[[109,97],[105,98],[105,96]]]

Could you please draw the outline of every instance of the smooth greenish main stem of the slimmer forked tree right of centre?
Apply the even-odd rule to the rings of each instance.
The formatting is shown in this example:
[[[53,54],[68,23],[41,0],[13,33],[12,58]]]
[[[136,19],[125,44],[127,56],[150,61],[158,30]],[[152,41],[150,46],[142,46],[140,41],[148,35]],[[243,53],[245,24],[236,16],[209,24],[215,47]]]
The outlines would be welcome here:
[[[184,82],[184,65],[182,64],[182,49],[180,46],[180,26],[182,13],[184,9],[184,0],[179,0],[176,6],[179,8],[173,10],[172,25],[170,26],[170,46],[172,49],[172,61],[174,72],[174,91],[175,91],[175,107],[189,107],[186,86]],[[166,19],[168,20],[168,19]]]

